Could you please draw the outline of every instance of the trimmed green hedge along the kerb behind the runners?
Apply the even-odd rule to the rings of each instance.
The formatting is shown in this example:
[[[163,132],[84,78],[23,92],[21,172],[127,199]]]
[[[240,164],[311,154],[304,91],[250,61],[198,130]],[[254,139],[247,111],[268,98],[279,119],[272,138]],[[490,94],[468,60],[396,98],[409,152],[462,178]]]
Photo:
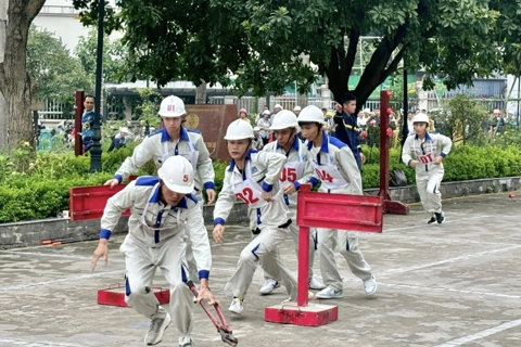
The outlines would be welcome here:
[[[38,152],[15,171],[15,164],[0,155],[0,223],[55,217],[68,209],[68,191],[72,187],[98,185],[112,178],[120,163],[131,154],[132,146],[103,153],[99,174],[90,174],[90,157],[74,156],[71,152]],[[380,185],[378,149],[365,147],[367,163],[361,175],[364,189]],[[390,169],[404,170],[408,184],[415,184],[415,170],[398,163],[401,151],[391,149]],[[220,192],[227,163],[214,162],[216,192]],[[444,181],[461,181],[491,177],[521,176],[521,149],[505,146],[454,146],[444,160]],[[155,175],[149,164],[140,175]]]

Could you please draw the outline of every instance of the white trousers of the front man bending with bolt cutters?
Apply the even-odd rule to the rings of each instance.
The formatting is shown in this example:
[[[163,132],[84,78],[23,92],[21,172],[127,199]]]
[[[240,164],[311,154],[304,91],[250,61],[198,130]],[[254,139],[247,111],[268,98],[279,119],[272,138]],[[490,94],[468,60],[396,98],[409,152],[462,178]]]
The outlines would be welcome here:
[[[181,335],[192,331],[193,294],[183,282],[187,278],[183,264],[185,234],[179,232],[167,239],[161,247],[150,247],[128,235],[119,250],[125,254],[125,301],[139,313],[152,318],[158,301],[152,290],[157,267],[170,284],[170,317]]]

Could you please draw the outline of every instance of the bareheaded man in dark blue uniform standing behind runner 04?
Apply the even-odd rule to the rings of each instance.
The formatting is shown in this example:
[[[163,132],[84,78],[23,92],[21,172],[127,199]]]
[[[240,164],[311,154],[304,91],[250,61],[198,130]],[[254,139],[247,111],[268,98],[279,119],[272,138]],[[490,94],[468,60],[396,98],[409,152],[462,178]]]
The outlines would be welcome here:
[[[361,164],[366,163],[366,156],[361,152],[359,129],[357,127],[356,97],[346,93],[342,99],[342,105],[335,103],[336,138],[347,144],[355,156],[358,169],[361,172]]]

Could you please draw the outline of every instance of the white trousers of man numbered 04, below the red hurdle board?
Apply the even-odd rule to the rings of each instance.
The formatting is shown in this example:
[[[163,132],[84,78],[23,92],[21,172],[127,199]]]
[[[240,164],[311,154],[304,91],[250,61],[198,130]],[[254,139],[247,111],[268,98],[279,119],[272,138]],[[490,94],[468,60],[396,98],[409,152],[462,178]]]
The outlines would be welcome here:
[[[368,280],[371,267],[358,248],[358,236],[354,232],[336,229],[317,228],[318,255],[323,283],[334,290],[342,290],[342,278],[334,260],[335,249],[344,256],[351,271],[357,278]]]

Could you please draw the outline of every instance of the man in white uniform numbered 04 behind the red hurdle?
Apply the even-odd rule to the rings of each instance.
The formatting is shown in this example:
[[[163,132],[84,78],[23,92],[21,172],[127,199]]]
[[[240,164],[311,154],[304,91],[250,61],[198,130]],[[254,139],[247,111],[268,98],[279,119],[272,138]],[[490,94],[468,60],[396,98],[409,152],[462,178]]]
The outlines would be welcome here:
[[[302,110],[298,125],[302,136],[308,141],[307,156],[313,167],[309,182],[313,185],[321,182],[319,192],[322,193],[363,195],[360,171],[353,152],[345,143],[329,137],[322,130],[325,121],[320,108],[312,105]],[[318,292],[316,297],[322,299],[343,297],[342,278],[334,260],[335,249],[340,249],[353,274],[363,280],[365,293],[367,295],[376,293],[376,278],[358,247],[355,232],[317,228],[317,241],[320,271],[326,288]]]

